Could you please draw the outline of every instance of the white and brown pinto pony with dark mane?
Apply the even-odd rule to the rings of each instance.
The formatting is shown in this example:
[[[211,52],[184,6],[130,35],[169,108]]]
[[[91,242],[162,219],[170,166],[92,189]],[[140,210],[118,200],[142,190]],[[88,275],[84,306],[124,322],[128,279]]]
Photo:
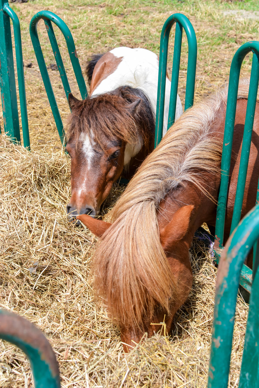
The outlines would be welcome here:
[[[145,49],[118,47],[95,55],[87,74],[90,97],[80,101],[69,95],[66,149],[71,156],[70,218],[97,215],[122,172],[125,178],[131,178],[154,147],[157,55]],[[167,78],[164,133],[169,98]],[[177,96],[176,118],[182,113]]]

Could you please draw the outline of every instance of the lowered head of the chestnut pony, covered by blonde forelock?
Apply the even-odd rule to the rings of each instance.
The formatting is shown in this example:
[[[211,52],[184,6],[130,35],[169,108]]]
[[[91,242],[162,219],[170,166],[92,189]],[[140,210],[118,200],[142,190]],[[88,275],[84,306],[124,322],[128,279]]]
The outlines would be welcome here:
[[[116,235],[118,238],[129,236],[131,225],[123,227],[117,221],[111,224],[89,215],[77,216],[100,237],[93,264],[94,288],[98,295],[103,296],[111,317],[120,327],[125,351],[136,345],[145,332],[150,337],[161,330],[161,324],[169,332],[175,312],[189,294],[192,284],[189,263],[192,213],[192,205],[183,206],[174,213],[170,222],[158,226],[155,235],[151,231],[153,241],[148,240],[148,233],[142,233],[139,241],[139,231],[136,231],[130,241],[124,239],[118,246],[111,241],[116,241]],[[137,227],[137,223],[134,226]],[[128,233],[122,230],[124,228]],[[143,246],[138,246],[139,242]],[[150,255],[143,260],[145,245],[150,249]]]

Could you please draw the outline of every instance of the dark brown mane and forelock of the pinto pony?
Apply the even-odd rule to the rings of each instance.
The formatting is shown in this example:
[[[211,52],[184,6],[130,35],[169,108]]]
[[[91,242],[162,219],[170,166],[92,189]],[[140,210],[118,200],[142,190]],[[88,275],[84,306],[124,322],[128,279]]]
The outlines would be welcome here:
[[[141,98],[137,113],[128,106]],[[153,149],[155,119],[146,95],[139,89],[119,87],[112,92],[76,101],[68,120],[66,138],[78,142],[81,133],[102,147],[102,136],[135,144],[141,137],[150,151]]]

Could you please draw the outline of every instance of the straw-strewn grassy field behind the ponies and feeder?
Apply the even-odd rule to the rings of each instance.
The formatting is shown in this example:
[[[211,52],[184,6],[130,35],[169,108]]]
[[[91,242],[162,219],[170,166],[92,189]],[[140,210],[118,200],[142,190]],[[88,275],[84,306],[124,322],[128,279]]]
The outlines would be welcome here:
[[[223,0],[77,0],[76,2],[35,0],[28,3],[10,3],[10,6],[17,13],[21,23],[24,64],[30,62],[33,64],[31,69],[25,68],[27,98],[31,101],[32,106],[38,104],[39,109],[40,106],[44,106],[44,115],[38,113],[37,115],[48,120],[47,123],[38,122],[40,133],[42,126],[52,128],[54,125],[29,34],[30,20],[40,10],[54,12],[68,25],[75,41],[82,69],[85,68],[92,54],[103,53],[118,46],[143,47],[159,54],[163,23],[173,13],[185,14],[193,24],[198,43],[195,101],[213,92],[228,79],[231,60],[240,45],[250,40],[259,40],[259,20],[236,20],[231,14],[227,16],[223,14],[226,10],[257,11],[259,9],[257,0],[233,2]],[[71,90],[78,95],[64,37],[56,26],[54,30]],[[54,63],[55,59],[43,21],[38,23],[38,35],[48,66]],[[169,73],[172,68],[173,44],[174,27],[169,41]],[[187,58],[188,45],[186,36],[183,34],[179,80],[179,94],[182,100],[184,100]],[[249,75],[251,58],[250,55],[245,59],[242,76]],[[49,73],[57,96],[57,103],[61,109],[61,116],[65,119],[69,109],[59,74],[57,71]],[[29,120],[35,126],[37,109],[32,109],[32,111],[32,117],[29,115]],[[32,138],[34,136],[38,136],[37,131],[35,135],[31,135]],[[43,139],[41,141],[43,142]],[[59,145],[59,139],[54,135],[53,145],[57,144]]]

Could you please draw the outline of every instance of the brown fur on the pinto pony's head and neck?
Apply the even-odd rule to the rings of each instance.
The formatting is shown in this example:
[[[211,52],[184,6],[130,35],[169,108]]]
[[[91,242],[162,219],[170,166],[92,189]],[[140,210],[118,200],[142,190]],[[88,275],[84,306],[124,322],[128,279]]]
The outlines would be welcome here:
[[[148,98],[130,87],[83,101],[70,95],[69,102],[72,112],[66,149],[71,156],[71,199],[67,212],[73,219],[75,214],[98,214],[123,169],[125,178],[132,177],[153,149],[155,120]],[[90,168],[81,134],[92,144]]]

